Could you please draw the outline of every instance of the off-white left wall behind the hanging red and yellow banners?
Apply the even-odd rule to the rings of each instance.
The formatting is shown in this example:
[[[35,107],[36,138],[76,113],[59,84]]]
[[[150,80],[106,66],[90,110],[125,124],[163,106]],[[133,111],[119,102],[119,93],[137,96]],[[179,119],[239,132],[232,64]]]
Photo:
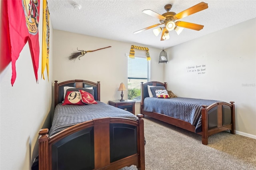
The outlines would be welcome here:
[[[40,4],[42,22],[42,1]],[[52,33],[52,29],[50,29]],[[42,24],[39,24],[39,43],[42,49]],[[52,35],[50,34],[50,45]],[[41,79],[41,51],[38,83],[36,83],[28,43],[16,61],[17,78],[11,85],[11,63],[0,73],[0,169],[29,170],[38,154],[38,132],[50,126],[52,103],[52,47],[50,48],[50,75]]]

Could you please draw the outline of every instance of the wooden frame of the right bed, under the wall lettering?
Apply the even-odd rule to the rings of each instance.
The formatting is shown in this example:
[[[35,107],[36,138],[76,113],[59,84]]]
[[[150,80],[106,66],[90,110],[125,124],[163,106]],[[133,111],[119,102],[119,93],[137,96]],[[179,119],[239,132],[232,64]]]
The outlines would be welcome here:
[[[181,119],[169,117],[167,115],[155,112],[144,111],[144,99],[149,97],[147,85],[164,86],[166,88],[166,82],[161,83],[158,81],[151,81],[147,83],[141,82],[141,106],[140,113],[148,115],[160,121],[164,121],[171,125],[184,128],[191,132],[195,132],[195,126],[189,122]],[[217,102],[210,106],[202,106],[202,132],[198,134],[202,135],[202,144],[208,144],[208,136],[222,132],[224,130],[230,130],[230,133],[235,134],[235,105],[233,101],[229,103]]]

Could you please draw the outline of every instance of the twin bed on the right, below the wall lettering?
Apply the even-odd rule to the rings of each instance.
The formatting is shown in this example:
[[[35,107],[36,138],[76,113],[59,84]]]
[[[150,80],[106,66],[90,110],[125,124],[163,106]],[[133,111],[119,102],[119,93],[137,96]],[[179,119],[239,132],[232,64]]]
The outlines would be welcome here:
[[[175,97],[170,99],[149,97],[150,89],[166,89],[166,83],[141,83],[141,114],[202,135],[202,144],[208,136],[230,130],[235,134],[234,102]],[[151,90],[152,91],[152,90]]]

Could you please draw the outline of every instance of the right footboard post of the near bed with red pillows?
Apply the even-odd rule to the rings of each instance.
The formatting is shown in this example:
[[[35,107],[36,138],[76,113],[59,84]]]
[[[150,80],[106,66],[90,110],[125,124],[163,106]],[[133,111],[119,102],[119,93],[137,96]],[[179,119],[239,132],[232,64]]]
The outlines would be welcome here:
[[[142,114],[137,114],[136,115],[138,118],[139,118],[139,146],[140,148],[139,149],[139,153],[140,153],[140,160],[139,160],[139,165],[140,165],[140,168],[139,170],[145,170],[145,148],[144,148],[144,120],[142,119],[142,117],[144,117],[144,115]]]

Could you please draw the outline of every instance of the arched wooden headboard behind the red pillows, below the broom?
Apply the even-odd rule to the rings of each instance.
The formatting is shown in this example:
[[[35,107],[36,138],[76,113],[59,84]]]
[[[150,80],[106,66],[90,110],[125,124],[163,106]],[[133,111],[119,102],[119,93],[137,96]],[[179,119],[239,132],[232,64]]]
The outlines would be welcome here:
[[[58,103],[62,103],[62,101],[64,101],[64,89],[63,89],[64,86],[76,87],[76,88],[92,87],[92,89],[94,89],[94,99],[97,101],[100,101],[100,81],[97,81],[97,83],[94,83],[92,81],[87,81],[87,80],[69,80],[69,81],[64,81],[62,83],[58,83],[58,81],[55,81],[54,107],[56,107]]]

